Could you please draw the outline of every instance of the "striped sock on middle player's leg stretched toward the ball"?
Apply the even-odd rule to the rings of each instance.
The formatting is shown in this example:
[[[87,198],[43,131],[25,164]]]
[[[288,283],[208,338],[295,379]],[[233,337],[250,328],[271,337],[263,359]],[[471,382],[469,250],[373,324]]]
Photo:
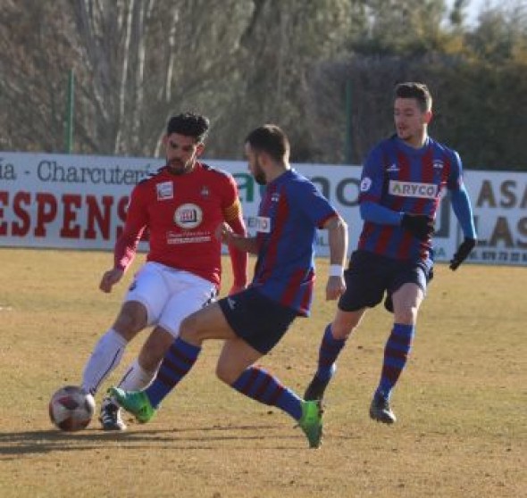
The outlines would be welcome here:
[[[188,374],[200,352],[201,347],[188,344],[180,337],[173,342],[164,355],[154,382],[145,390],[152,406],[159,406],[159,403]]]

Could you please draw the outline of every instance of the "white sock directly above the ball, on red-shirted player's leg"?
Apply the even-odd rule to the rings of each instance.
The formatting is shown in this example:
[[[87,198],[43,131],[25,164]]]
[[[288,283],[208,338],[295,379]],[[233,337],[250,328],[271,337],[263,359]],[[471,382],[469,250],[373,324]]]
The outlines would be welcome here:
[[[86,392],[96,394],[103,380],[119,365],[126,344],[128,341],[113,328],[97,341],[82,373],[82,388]]]

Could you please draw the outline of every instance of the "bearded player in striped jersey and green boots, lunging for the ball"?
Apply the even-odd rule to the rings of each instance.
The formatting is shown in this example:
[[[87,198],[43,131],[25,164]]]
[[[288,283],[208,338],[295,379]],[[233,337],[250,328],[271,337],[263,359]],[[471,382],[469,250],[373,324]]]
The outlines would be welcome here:
[[[180,336],[167,351],[154,382],[144,391],[111,387],[122,408],[145,423],[163,399],[196,365],[208,340],[222,340],[216,375],[239,394],[279,408],[297,420],[310,448],[322,444],[322,407],[305,402],[259,362],[270,353],[298,316],[308,316],[315,278],[314,241],[317,229],[328,230],[330,275],[326,299],[346,290],[343,265],[347,224],[308,178],[289,164],[289,138],[278,126],[263,125],[246,138],[248,169],[265,185],[254,237],[238,237],[229,226],[218,238],[257,255],[255,275],[247,290],[220,299],[189,315]]]

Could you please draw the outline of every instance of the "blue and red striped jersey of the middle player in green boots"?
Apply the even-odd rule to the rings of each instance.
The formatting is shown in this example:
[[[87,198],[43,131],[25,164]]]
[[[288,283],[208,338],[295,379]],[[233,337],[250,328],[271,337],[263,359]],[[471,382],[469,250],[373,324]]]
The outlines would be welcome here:
[[[288,170],[265,188],[258,210],[252,286],[308,316],[313,301],[317,228],[337,212],[307,178]]]

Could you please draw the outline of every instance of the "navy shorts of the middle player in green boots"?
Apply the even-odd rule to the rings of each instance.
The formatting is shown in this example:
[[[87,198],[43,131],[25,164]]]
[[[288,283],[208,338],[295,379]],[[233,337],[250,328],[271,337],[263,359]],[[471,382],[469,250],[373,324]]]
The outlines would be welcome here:
[[[269,353],[297,318],[297,311],[249,287],[218,301],[234,333],[262,354]]]

